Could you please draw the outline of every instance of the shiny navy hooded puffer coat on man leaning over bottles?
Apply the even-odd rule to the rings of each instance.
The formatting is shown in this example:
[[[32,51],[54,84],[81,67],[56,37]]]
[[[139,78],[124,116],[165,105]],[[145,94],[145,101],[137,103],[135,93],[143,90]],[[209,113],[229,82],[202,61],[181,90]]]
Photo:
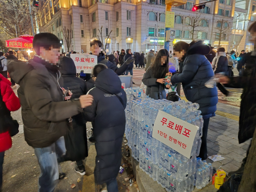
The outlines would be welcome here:
[[[181,82],[187,100],[198,103],[204,119],[215,116],[218,103],[217,88],[206,88],[205,82],[214,76],[210,62],[204,56],[210,47],[197,41],[187,50],[183,61],[182,73],[172,76],[172,84]]]

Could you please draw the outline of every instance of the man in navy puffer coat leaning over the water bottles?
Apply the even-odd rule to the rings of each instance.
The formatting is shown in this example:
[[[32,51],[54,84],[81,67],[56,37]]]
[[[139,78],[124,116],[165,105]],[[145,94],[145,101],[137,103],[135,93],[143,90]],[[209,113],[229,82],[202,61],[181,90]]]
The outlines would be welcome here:
[[[182,83],[188,101],[200,105],[199,110],[202,111],[201,115],[204,120],[202,145],[199,154],[202,160],[207,159],[206,138],[208,125],[210,117],[215,116],[218,103],[216,86],[214,85],[213,88],[205,87],[205,82],[214,76],[210,62],[204,56],[209,52],[210,47],[205,45],[203,41],[193,41],[190,44],[178,41],[174,45],[174,56],[184,61],[180,66],[180,73],[171,77],[172,84]]]

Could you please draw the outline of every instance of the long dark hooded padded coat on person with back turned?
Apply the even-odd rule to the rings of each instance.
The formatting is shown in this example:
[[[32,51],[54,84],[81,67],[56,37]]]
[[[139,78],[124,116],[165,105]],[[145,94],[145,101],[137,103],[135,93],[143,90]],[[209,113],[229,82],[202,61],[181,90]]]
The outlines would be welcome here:
[[[94,97],[93,104],[83,114],[94,123],[97,152],[94,177],[97,184],[102,184],[115,179],[121,165],[126,94],[120,79],[110,69],[98,74],[95,86],[89,92]]]

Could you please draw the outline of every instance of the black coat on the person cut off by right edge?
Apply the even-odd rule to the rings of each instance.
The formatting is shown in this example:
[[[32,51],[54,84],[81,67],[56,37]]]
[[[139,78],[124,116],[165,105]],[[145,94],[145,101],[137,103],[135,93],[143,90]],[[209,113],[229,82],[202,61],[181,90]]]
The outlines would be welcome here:
[[[253,63],[256,68],[256,56],[249,56],[247,63]],[[253,71],[253,70],[252,70]],[[245,69],[247,76],[229,77],[228,87],[243,88],[240,104],[238,141],[243,143],[252,138],[256,126],[256,77],[251,76],[248,67]]]

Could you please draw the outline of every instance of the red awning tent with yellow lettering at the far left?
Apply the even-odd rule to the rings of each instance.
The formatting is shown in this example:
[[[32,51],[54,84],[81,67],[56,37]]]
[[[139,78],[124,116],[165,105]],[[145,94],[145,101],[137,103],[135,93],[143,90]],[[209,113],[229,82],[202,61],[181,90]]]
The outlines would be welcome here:
[[[32,35],[19,35],[16,38],[6,40],[6,47],[32,49],[33,38]]]

